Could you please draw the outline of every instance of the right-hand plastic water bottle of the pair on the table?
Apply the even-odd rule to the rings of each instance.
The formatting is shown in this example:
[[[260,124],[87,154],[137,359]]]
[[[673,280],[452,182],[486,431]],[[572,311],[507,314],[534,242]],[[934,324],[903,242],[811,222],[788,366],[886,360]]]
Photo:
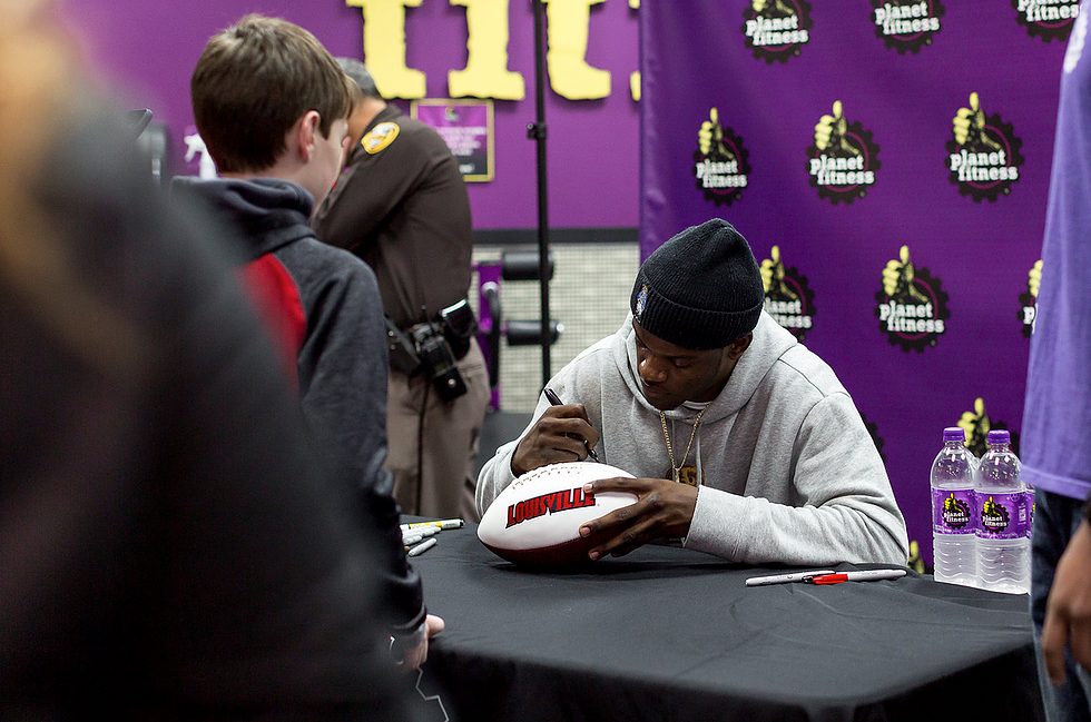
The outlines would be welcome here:
[[[1026,594],[1031,576],[1026,487],[1010,443],[1008,432],[989,432],[989,451],[977,465],[977,583],[993,592]]]

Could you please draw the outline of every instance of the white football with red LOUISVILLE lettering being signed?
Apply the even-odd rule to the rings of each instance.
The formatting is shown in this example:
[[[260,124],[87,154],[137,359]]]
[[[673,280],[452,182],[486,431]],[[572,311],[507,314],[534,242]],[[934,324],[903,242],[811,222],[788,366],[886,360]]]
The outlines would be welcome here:
[[[528,472],[512,482],[485,510],[478,538],[497,555],[517,564],[566,566],[589,562],[601,538],[580,536],[580,525],[637,501],[627,492],[584,493],[600,478],[632,477],[607,464],[569,462]]]

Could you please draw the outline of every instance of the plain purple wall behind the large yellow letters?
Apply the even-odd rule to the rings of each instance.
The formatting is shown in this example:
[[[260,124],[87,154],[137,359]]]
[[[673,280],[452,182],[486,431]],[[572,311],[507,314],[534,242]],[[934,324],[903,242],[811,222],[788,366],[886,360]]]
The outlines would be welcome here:
[[[537,224],[534,144],[525,137],[534,119],[533,19],[529,0],[510,6],[509,67],[523,73],[527,99],[495,103],[497,177],[470,187],[476,228]],[[362,56],[361,11],[343,0],[68,0],[67,11],[96,65],[127,87],[130,105],[153,108],[156,120],[168,125],[176,168],[183,167],[181,135],[193,125],[189,73],[208,37],[240,16],[283,17],[314,32],[334,55]],[[621,0],[592,8],[587,60],[612,72],[608,98],[573,101],[547,92],[553,226],[637,225],[638,108],[628,85],[637,69],[637,23],[636,11]],[[465,65],[465,9],[427,0],[406,9],[405,30],[407,65],[427,73],[429,97],[445,97],[448,70]]]

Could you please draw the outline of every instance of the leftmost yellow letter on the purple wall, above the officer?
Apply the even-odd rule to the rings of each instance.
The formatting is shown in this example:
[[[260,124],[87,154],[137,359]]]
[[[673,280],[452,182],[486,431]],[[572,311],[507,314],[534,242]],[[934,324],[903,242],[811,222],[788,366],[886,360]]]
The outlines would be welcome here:
[[[364,60],[384,98],[423,98],[425,76],[405,66],[405,8],[422,0],[345,0],[364,16]]]

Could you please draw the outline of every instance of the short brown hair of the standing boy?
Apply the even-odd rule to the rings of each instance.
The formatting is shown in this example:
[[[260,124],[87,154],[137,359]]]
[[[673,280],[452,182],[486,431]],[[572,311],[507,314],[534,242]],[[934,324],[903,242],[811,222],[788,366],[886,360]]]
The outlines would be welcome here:
[[[317,38],[279,18],[248,14],[213,36],[189,81],[197,130],[220,171],[273,166],[308,110],[330,137],[352,109],[345,73]]]

